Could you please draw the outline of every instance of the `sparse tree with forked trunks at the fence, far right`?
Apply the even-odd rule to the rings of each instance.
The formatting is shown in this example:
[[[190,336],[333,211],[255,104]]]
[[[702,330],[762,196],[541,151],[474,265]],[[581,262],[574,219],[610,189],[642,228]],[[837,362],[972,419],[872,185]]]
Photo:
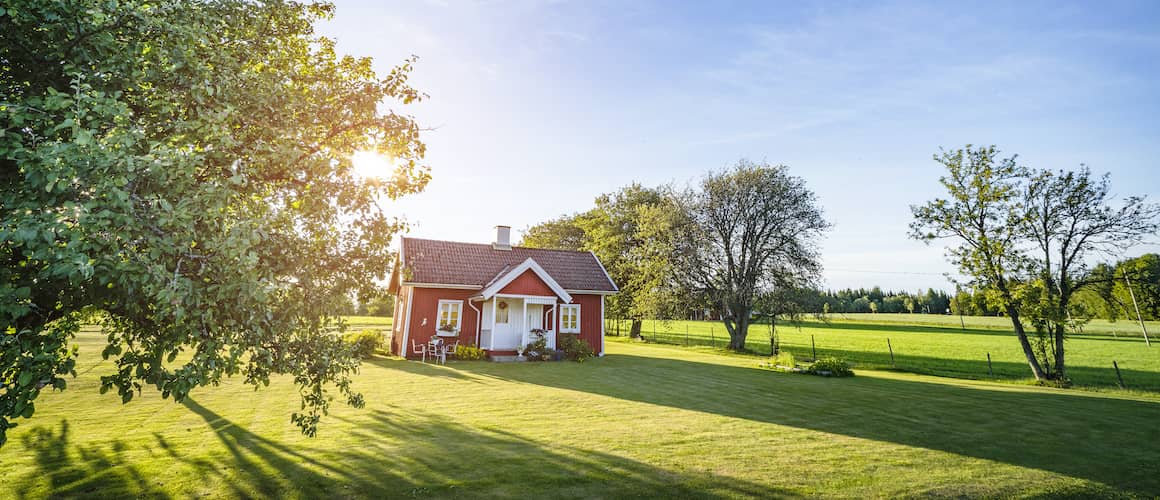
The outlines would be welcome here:
[[[912,206],[912,237],[955,240],[951,261],[1010,318],[1036,379],[1066,383],[1065,333],[1083,312],[1073,298],[1108,281],[1088,260],[1153,234],[1160,208],[1141,197],[1114,206],[1107,175],[1029,169],[994,146],[935,160],[947,168],[948,197]]]

